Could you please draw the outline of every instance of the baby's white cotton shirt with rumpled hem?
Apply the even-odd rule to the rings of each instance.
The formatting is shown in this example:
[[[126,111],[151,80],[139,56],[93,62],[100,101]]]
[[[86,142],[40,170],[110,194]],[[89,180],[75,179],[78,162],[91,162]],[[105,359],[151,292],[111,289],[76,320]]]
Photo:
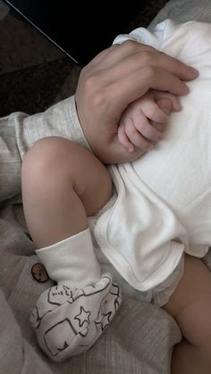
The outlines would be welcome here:
[[[136,162],[111,167],[115,204],[97,220],[105,256],[132,287],[146,291],[171,275],[183,252],[202,257],[211,244],[211,25],[171,20],[133,38],[199,71],[173,113],[165,140]]]

